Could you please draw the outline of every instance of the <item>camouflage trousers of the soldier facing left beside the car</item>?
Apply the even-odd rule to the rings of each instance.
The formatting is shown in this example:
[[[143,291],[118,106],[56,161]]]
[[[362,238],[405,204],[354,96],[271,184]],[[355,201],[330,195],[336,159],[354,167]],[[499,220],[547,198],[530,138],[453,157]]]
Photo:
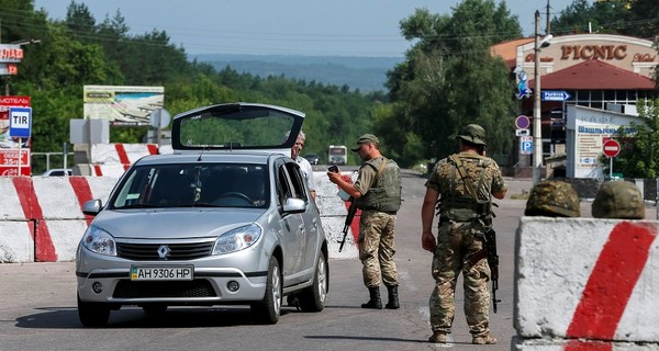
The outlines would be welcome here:
[[[395,215],[377,211],[361,212],[359,220],[359,260],[367,287],[398,285],[398,271],[393,254]]]

